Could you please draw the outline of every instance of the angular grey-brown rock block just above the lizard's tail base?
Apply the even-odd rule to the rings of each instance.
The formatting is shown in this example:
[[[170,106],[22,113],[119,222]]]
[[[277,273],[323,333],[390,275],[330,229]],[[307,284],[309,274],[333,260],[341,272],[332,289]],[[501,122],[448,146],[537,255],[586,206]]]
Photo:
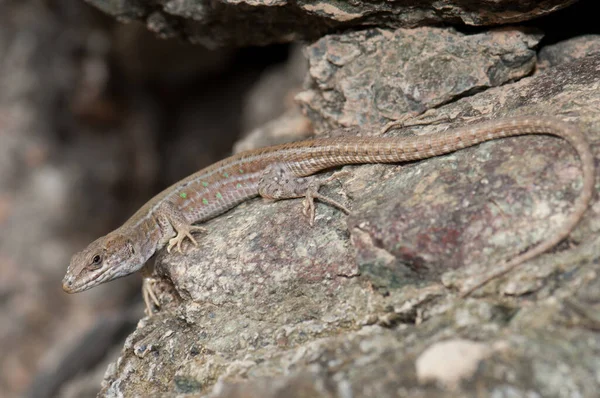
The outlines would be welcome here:
[[[517,29],[367,29],[307,47],[310,90],[297,96],[317,129],[381,124],[531,73],[541,34]]]

